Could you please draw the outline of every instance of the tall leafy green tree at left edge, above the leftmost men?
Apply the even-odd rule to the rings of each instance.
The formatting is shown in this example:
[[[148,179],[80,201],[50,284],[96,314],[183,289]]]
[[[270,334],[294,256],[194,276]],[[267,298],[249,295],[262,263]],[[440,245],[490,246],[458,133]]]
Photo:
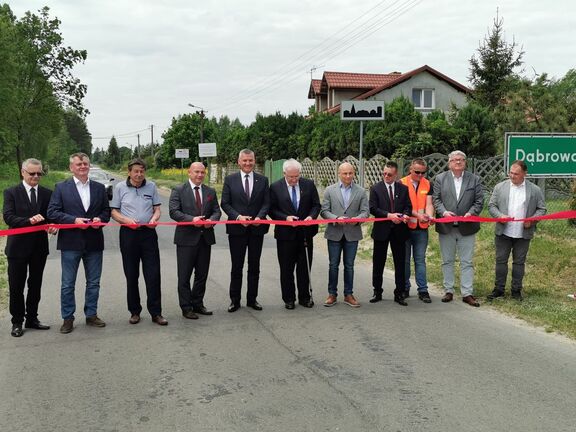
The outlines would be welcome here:
[[[0,105],[9,113],[0,120],[0,140],[18,166],[26,157],[46,156],[47,143],[63,127],[62,108],[86,113],[86,86],[72,73],[86,51],[64,46],[59,27],[47,7],[17,19],[7,4],[0,6]]]

